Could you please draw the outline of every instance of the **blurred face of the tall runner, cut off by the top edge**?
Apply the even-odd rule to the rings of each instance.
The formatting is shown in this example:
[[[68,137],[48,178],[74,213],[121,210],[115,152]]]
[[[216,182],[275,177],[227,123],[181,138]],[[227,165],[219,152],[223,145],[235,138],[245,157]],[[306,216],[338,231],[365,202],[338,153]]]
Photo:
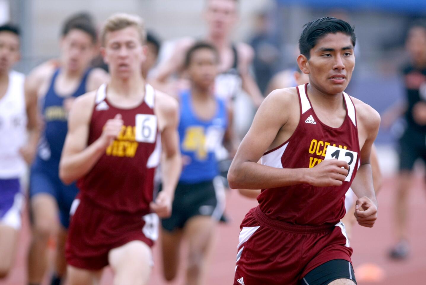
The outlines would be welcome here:
[[[205,17],[211,33],[227,35],[237,20],[237,2],[235,0],[207,0]]]

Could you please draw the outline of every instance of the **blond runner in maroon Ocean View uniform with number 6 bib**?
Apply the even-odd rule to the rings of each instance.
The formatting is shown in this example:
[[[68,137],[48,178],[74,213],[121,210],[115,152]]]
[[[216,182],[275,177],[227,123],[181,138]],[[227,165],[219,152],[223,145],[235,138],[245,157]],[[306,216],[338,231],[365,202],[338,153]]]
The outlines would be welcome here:
[[[111,16],[101,50],[111,81],[76,99],[70,112],[60,177],[78,179],[80,188],[66,244],[71,285],[92,284],[107,265],[114,284],[147,284],[157,214],[170,215],[181,170],[178,105],[144,82],[145,38],[141,18]],[[161,157],[163,191],[153,202]]]

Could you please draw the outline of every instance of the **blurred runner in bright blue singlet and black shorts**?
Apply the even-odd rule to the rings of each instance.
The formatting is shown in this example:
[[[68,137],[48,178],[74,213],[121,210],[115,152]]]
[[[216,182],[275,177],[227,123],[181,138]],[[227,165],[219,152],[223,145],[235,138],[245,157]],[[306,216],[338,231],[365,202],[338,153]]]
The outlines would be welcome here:
[[[216,224],[225,209],[225,189],[219,177],[216,151],[223,140],[232,149],[232,113],[214,96],[219,55],[207,43],[191,47],[185,57],[191,88],[181,92],[179,137],[184,167],[173,201],[172,215],[162,221],[164,276],[175,278],[182,238],[188,242],[187,285],[205,284]],[[186,256],[186,255],[185,255]]]

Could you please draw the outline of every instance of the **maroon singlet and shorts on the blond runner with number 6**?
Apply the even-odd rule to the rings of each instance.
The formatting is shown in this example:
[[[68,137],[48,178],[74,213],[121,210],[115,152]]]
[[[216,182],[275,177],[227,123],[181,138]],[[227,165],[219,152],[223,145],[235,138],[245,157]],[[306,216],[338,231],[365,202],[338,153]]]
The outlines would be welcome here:
[[[146,85],[140,105],[120,109],[110,104],[106,88],[102,85],[96,93],[88,145],[116,114],[124,125],[90,172],[78,180],[80,193],[71,208],[66,244],[67,262],[88,270],[108,265],[108,252],[115,247],[133,240],[152,246],[158,237],[158,216],[149,207],[161,157],[155,91]]]

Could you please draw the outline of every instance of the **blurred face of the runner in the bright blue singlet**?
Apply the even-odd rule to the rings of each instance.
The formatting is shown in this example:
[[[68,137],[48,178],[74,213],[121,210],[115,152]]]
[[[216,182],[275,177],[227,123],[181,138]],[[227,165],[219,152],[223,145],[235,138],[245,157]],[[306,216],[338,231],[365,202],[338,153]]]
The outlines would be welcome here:
[[[212,87],[217,75],[218,58],[211,49],[197,49],[191,56],[188,74],[192,83],[202,89]]]

